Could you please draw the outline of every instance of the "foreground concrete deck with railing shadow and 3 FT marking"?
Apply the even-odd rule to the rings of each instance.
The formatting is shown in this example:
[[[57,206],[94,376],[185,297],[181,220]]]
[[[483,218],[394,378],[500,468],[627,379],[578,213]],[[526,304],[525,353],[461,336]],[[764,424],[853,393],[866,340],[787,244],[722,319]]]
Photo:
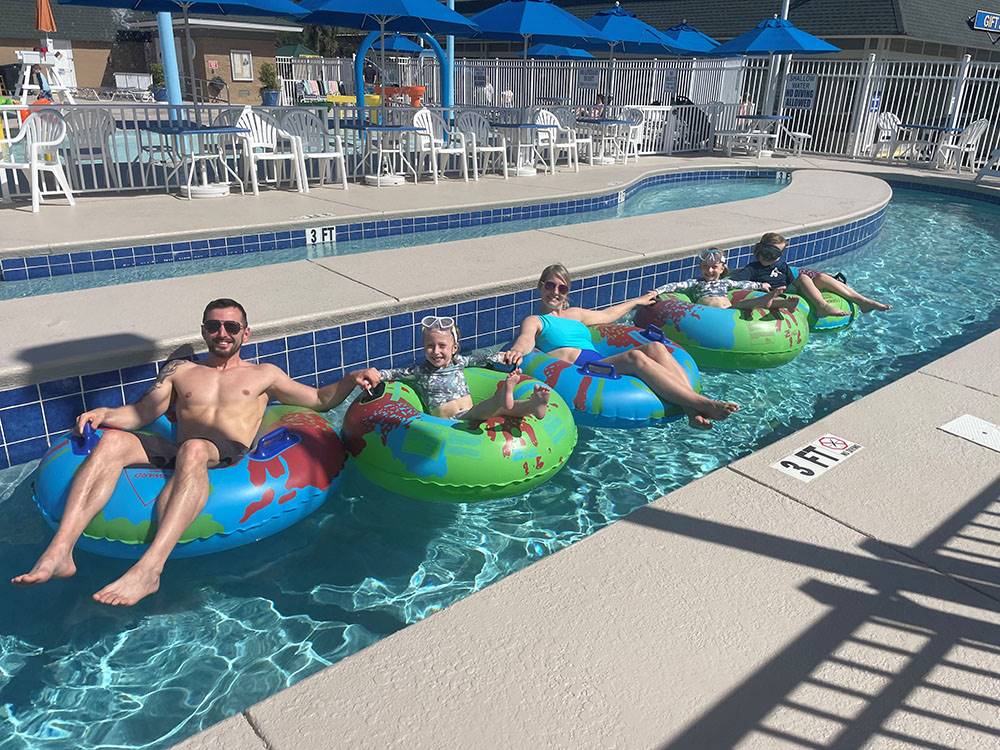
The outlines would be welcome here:
[[[921,408],[913,408],[917,403]],[[181,743],[995,747],[1000,332]],[[812,483],[771,464],[863,449]]]

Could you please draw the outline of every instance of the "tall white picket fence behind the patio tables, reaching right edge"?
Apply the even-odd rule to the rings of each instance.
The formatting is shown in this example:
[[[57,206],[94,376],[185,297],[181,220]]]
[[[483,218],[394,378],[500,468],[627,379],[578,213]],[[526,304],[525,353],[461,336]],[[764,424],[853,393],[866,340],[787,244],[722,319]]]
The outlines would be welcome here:
[[[337,71],[334,78],[353,80],[349,59],[316,62],[303,58],[279,69],[299,78]],[[775,58],[780,63],[780,58]],[[282,68],[282,65],[285,67]],[[740,114],[771,111],[787,115],[787,129],[806,133],[808,153],[863,158],[871,152],[876,122],[892,113],[902,122],[964,127],[987,118],[991,125],[979,142],[975,164],[982,164],[1000,146],[1000,64],[953,62],[792,58],[782,74],[771,75],[767,57],[731,59],[611,59],[520,60],[516,58],[459,59],[455,63],[456,106],[526,107],[540,102],[591,106],[598,93],[615,105],[651,106],[685,97],[695,104],[721,102],[739,105]],[[440,80],[434,58],[393,58],[386,75],[399,81],[427,85],[426,101],[440,101]],[[388,67],[388,65],[387,65]],[[787,76],[815,77],[815,93],[808,108],[785,106],[781,90]],[[346,77],[345,77],[346,76]],[[331,80],[334,80],[331,79]],[[770,97],[767,91],[770,81]],[[286,102],[297,101],[286,81]],[[348,83],[353,88],[353,83]],[[684,101],[681,99],[680,101]],[[731,127],[731,124],[729,125]],[[781,131],[779,148],[791,141]]]

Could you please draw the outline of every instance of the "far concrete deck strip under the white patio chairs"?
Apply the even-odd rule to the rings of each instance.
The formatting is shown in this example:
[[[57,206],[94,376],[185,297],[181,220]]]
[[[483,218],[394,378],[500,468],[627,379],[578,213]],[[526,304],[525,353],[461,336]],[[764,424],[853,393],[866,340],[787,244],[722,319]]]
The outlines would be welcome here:
[[[346,192],[314,187],[308,195],[271,190],[253,196],[187,201],[165,193],[82,195],[77,206],[58,201],[37,214],[30,206],[0,210],[4,231],[0,257],[42,255],[70,250],[122,247],[172,238],[197,239],[277,229],[324,226],[345,220],[405,216],[434,211],[474,210],[484,206],[575,198],[607,193],[643,175],[692,169],[830,169],[878,176],[914,178],[960,185],[981,192],[1000,192],[1000,181],[972,185],[970,175],[955,175],[867,161],[811,156],[726,158],[714,155],[648,156],[638,164],[606,167],[584,165],[579,173],[560,171],[504,180],[495,175],[478,182],[442,180],[399,188],[352,185]]]

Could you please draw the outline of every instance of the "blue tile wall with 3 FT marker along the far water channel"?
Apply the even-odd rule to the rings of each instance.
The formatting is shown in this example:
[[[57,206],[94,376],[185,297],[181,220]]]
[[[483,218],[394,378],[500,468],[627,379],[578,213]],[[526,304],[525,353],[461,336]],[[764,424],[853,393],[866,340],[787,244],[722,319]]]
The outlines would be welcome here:
[[[675,172],[646,177],[634,185],[630,185],[623,192],[627,199],[638,191],[654,185],[721,179],[774,179],[776,174],[777,172],[773,169],[712,169]],[[546,216],[587,213],[610,208],[616,205],[619,200],[619,193],[615,191],[588,198],[552,203],[532,203],[481,211],[337,224],[335,225],[335,236],[337,242],[347,242],[374,237],[432,232],[439,229],[537,219]],[[0,260],[0,281],[24,281],[25,279],[41,279],[74,273],[148,266],[156,263],[174,263],[224,255],[286,250],[290,247],[304,245],[305,242],[306,230],[293,229],[281,232],[167,242],[157,245],[117,247],[110,250],[81,250],[54,255],[33,255],[26,258],[3,258]]]

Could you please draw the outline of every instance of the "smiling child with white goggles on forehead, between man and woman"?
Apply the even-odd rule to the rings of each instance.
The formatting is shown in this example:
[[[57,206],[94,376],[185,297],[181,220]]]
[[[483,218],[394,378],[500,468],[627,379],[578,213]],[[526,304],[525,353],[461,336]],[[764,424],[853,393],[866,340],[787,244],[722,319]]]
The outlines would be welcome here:
[[[514,399],[520,370],[514,370],[493,396],[473,404],[463,370],[499,362],[499,355],[460,355],[460,335],[454,318],[428,315],[420,321],[420,326],[425,360],[410,367],[361,371],[358,375],[367,388],[374,388],[383,380],[406,380],[414,385],[427,411],[435,417],[460,419],[474,424],[493,417],[521,419],[533,416],[541,419],[545,416],[549,405],[549,389],[545,386],[535,386],[534,392],[526,399]]]

